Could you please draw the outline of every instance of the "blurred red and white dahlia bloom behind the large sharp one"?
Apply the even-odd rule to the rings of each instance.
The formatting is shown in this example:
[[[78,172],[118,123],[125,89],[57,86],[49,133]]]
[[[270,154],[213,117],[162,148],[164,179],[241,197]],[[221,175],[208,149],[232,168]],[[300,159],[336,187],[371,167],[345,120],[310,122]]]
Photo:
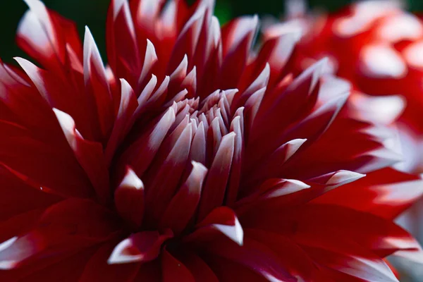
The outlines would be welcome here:
[[[423,20],[404,11],[400,1],[384,0],[360,1],[332,14],[291,14],[288,25],[302,32],[293,67],[302,71],[328,57],[333,71],[353,83],[357,95],[352,102],[366,100],[372,107],[397,112],[405,106],[397,123],[404,143],[403,169],[422,173]],[[266,36],[277,36],[284,25],[269,27]],[[362,93],[393,96],[380,102]]]

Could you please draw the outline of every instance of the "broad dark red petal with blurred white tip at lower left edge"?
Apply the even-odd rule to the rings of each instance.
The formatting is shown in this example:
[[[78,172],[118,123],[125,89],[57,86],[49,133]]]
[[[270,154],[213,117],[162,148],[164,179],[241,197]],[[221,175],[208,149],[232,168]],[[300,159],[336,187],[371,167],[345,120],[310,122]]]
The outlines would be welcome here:
[[[120,229],[113,215],[88,200],[64,200],[47,208],[32,230],[2,243],[2,269],[13,269],[28,259],[60,257],[102,243]]]

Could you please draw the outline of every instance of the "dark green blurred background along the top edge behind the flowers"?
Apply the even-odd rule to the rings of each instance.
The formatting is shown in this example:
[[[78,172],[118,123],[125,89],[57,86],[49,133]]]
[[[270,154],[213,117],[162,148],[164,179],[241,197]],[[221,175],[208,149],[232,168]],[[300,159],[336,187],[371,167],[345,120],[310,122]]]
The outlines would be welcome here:
[[[0,57],[11,61],[13,56],[24,56],[15,44],[18,22],[27,6],[23,0],[1,0],[0,8]],[[309,0],[310,6],[319,6],[331,11],[352,2],[352,0]],[[109,0],[44,0],[49,8],[78,23],[81,31],[90,27],[99,49],[104,55],[104,23]],[[412,11],[423,11],[423,0],[408,0]],[[221,22],[233,16],[258,13],[259,15],[283,12],[283,0],[217,0],[216,15]]]

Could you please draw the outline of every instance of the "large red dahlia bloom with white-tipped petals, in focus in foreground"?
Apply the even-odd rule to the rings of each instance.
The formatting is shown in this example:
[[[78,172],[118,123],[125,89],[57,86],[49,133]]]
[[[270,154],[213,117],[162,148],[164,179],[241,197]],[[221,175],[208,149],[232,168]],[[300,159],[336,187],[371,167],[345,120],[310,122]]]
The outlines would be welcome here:
[[[104,67],[90,30],[26,2],[40,67],[0,64],[1,281],[398,281],[385,257],[422,261],[393,223],[422,181],[325,60],[294,73],[294,30],[253,51],[255,16],[113,0]]]

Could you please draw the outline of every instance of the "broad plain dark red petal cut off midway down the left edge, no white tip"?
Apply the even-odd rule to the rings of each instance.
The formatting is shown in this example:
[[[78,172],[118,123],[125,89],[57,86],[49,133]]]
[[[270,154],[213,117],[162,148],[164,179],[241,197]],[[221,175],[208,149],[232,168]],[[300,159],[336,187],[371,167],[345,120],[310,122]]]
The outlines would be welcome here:
[[[47,187],[64,197],[92,196],[90,180],[69,147],[62,147],[63,137],[44,142],[29,130],[4,121],[0,121],[0,130],[2,167],[36,189]]]

